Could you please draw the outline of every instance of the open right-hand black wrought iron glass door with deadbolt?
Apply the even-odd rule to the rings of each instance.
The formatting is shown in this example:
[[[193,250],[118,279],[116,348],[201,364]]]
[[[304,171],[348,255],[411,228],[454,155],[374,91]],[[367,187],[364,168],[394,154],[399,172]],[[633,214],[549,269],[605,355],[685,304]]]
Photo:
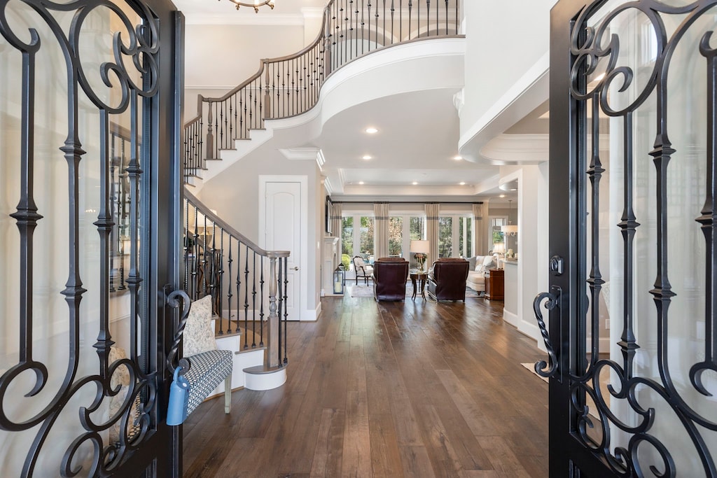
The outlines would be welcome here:
[[[551,12],[551,477],[717,476],[716,24],[716,1]]]

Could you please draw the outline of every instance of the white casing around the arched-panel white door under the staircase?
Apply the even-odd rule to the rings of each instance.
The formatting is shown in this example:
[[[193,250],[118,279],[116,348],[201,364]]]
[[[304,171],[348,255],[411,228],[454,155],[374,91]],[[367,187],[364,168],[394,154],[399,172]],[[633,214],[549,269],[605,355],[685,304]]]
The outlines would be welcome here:
[[[271,176],[271,175],[265,175],[260,174],[259,175],[259,208],[258,208],[258,216],[259,216],[259,247],[263,247],[266,249],[266,188],[267,183],[300,183],[300,191],[301,191],[301,216],[300,216],[300,227],[301,230],[299,231],[300,234],[300,242],[301,242],[301,257],[299,262],[299,280],[300,280],[300,286],[299,286],[299,302],[296,307],[296,310],[299,313],[298,320],[316,320],[316,317],[307,318],[304,319],[303,315],[307,312],[307,306],[306,306],[306,296],[308,293],[308,253],[309,253],[309,244],[308,244],[308,210],[309,210],[309,204],[308,204],[308,193],[309,193],[309,187],[308,187],[308,176],[305,175],[281,175],[281,176]]]

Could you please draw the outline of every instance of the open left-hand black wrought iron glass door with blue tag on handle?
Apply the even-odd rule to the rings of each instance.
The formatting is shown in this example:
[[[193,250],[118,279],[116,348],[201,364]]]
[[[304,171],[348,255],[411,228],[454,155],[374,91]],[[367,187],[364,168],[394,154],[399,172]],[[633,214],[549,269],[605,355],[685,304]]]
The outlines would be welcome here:
[[[179,476],[181,14],[0,0],[4,477]]]

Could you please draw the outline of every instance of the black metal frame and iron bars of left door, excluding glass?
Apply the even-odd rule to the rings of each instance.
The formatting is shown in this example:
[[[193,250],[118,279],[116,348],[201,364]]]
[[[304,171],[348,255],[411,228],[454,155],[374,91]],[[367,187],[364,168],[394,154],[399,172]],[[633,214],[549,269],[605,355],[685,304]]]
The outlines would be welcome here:
[[[70,307],[70,322],[79,323],[79,304],[82,295],[87,291],[82,288],[80,272],[77,270],[77,264],[80,261],[79,253],[77,252],[80,247],[77,241],[77,218],[79,214],[77,212],[79,207],[77,204],[77,163],[80,163],[82,155],[85,154],[81,149],[80,138],[78,138],[76,132],[77,92],[80,89],[85,89],[85,92],[87,92],[89,86],[80,86],[80,80],[77,80],[82,69],[80,60],[75,60],[80,51],[79,45],[76,44],[78,40],[74,37],[70,39],[65,37],[67,32],[62,31],[59,24],[54,21],[53,12],[72,10],[76,13],[75,19],[78,19],[78,24],[82,24],[82,15],[84,13],[80,12],[92,11],[97,6],[108,6],[108,2],[77,0],[70,4],[63,4],[64,6],[58,8],[61,4],[54,4],[49,0],[21,1],[24,1],[25,4],[38,12],[37,18],[47,21],[50,25],[56,37],[55,40],[62,42],[62,52],[65,54],[64,60],[67,63],[65,67],[67,68],[68,83],[70,83],[70,87],[67,88],[70,103],[68,111],[74,113],[75,119],[73,120],[72,115],[70,115],[68,140],[62,147],[62,152],[65,153],[70,170],[70,181],[68,183],[70,191],[69,229],[70,244],[75,244],[75,247],[70,248],[70,279],[68,279],[66,289],[62,294],[65,295],[67,304]],[[176,313],[174,308],[167,304],[167,295],[172,290],[179,288],[179,270],[182,258],[180,251],[182,245],[181,181],[183,171],[179,145],[181,144],[182,103],[184,97],[184,16],[181,12],[176,11],[176,7],[170,0],[127,0],[127,3],[138,14],[147,17],[146,19],[148,20],[145,27],[136,29],[135,33],[130,31],[130,36],[132,34],[136,36],[134,39],[136,43],[130,48],[138,48],[133,50],[133,55],[139,57],[145,54],[154,58],[152,61],[148,60],[147,56],[144,57],[145,63],[143,63],[143,67],[146,68],[146,71],[141,81],[145,82],[145,84],[147,82],[157,82],[156,93],[148,95],[151,96],[150,107],[135,108],[130,106],[130,108],[135,108],[137,114],[143,117],[141,145],[137,144],[140,142],[137,139],[138,135],[141,134],[140,129],[135,128],[136,119],[133,120],[133,130],[136,131],[136,133],[133,133],[136,136],[136,143],[133,144],[133,148],[136,144],[137,150],[141,150],[144,153],[142,157],[146,160],[146,163],[140,165],[137,161],[131,161],[126,169],[130,177],[130,183],[134,181],[132,183],[132,187],[135,188],[133,198],[138,199],[141,197],[143,203],[140,206],[139,201],[133,201],[136,203],[136,205],[133,205],[136,208],[136,213],[133,216],[132,221],[134,222],[130,229],[137,232],[131,233],[130,242],[132,243],[133,251],[141,251],[141,254],[130,254],[130,256],[136,257],[136,263],[133,262],[136,267],[133,266],[135,272],[128,274],[127,284],[128,289],[132,290],[130,293],[133,298],[139,297],[136,294],[139,287],[144,290],[142,300],[138,298],[130,300],[130,317],[137,317],[140,310],[146,311],[149,315],[144,321],[143,330],[141,330],[142,341],[147,344],[146,358],[142,359],[146,363],[140,365],[139,361],[132,362],[130,360],[133,365],[128,366],[128,370],[131,372],[130,376],[136,376],[137,380],[142,383],[141,386],[130,386],[130,393],[141,394],[145,406],[141,412],[142,418],[139,426],[142,431],[140,437],[134,439],[134,441],[132,439],[122,441],[115,448],[117,451],[114,454],[105,448],[108,444],[103,443],[100,439],[100,432],[106,430],[108,425],[95,423],[96,420],[90,419],[87,424],[83,424],[85,432],[81,433],[81,437],[78,436],[75,439],[75,444],[79,446],[79,444],[87,441],[95,444],[94,457],[92,457],[94,463],[91,465],[95,468],[92,473],[93,476],[179,478],[181,477],[181,427],[166,425],[168,389],[169,381],[171,380],[167,358],[174,339],[174,314]],[[95,383],[98,386],[98,396],[95,398],[96,405],[95,403],[82,403],[82,406],[86,406],[90,411],[94,411],[100,406],[100,403],[104,403],[110,396],[108,395],[110,393],[110,378],[108,375],[111,375],[111,371],[114,369],[109,369],[108,373],[108,365],[110,365],[108,364],[108,350],[110,345],[113,344],[108,330],[107,304],[109,292],[100,292],[102,296],[100,299],[102,317],[96,319],[101,324],[100,335],[94,345],[95,349],[97,349],[98,363],[100,364],[97,375],[77,378],[75,373],[72,373],[72,358],[75,355],[79,355],[77,351],[79,345],[77,340],[72,338],[71,334],[68,334],[70,335],[68,340],[70,372],[67,373],[65,383],[62,383],[60,390],[53,392],[56,393],[56,398],[43,411],[29,419],[27,423],[16,423],[12,417],[6,416],[4,409],[2,409],[2,401],[6,398],[6,392],[14,379],[20,373],[34,371],[36,384],[35,390],[29,394],[31,396],[44,386],[44,376],[47,375],[45,365],[37,362],[32,357],[32,231],[38,221],[42,220],[42,216],[39,214],[43,212],[37,211],[37,206],[34,205],[33,199],[34,193],[41,194],[42,191],[34,191],[32,184],[32,169],[34,167],[34,143],[32,138],[36,125],[34,121],[34,49],[42,47],[42,44],[32,44],[34,42],[32,38],[30,39],[30,44],[24,44],[21,39],[14,36],[12,25],[9,24],[6,16],[6,9],[12,8],[8,4],[8,0],[0,0],[0,33],[6,37],[11,46],[22,52],[23,55],[22,89],[24,95],[22,97],[21,114],[24,121],[22,121],[22,140],[19,138],[19,142],[22,145],[22,158],[0,158],[0,161],[19,161],[22,164],[22,198],[19,206],[17,206],[17,211],[11,216],[16,220],[21,235],[19,255],[22,258],[20,260],[20,280],[23,292],[19,300],[21,304],[19,317],[6,317],[6,320],[18,320],[21,323],[20,358],[16,365],[0,376],[0,411],[2,412],[0,429],[4,429],[9,434],[8,436],[11,436],[14,431],[25,431],[39,425],[40,431],[37,432],[35,442],[27,451],[27,457],[24,459],[25,469],[22,475],[31,477],[35,472],[39,471],[59,476],[61,473],[72,473],[72,469],[77,466],[76,464],[70,464],[74,459],[75,450],[72,449],[72,446],[75,446],[75,444],[72,444],[67,449],[62,458],[63,463],[57,463],[55,472],[51,472],[49,469],[38,470],[36,460],[43,446],[64,447],[68,445],[50,444],[45,441],[49,429],[52,429],[57,416],[64,410],[67,399],[75,393],[80,383]],[[115,14],[123,16],[120,10],[115,10]],[[77,27],[77,36],[80,35],[79,28]],[[140,36],[142,37],[141,39]],[[52,38],[43,38],[42,40],[43,42],[49,42]],[[128,39],[124,38],[123,41],[127,42]],[[143,42],[146,43],[143,44]],[[155,44],[153,42],[156,42],[156,51],[154,50]],[[117,54],[118,50],[115,50],[115,57]],[[123,54],[128,53],[124,52]],[[149,63],[146,63],[148,61]],[[153,64],[153,62],[156,62],[156,64]],[[119,71],[123,67],[116,68]],[[20,75],[20,72],[18,72],[18,75]],[[112,75],[108,76],[111,77]],[[111,78],[111,80],[115,80],[111,87],[118,87],[116,79]],[[145,85],[139,86],[140,89],[144,87]],[[132,90],[132,87],[129,89]],[[128,102],[130,104],[135,102],[136,105],[137,94],[130,91],[129,96],[132,97],[132,95],[134,95],[134,99],[130,99]],[[99,101],[97,100],[96,102]],[[100,134],[103,136],[100,138],[102,142],[100,145],[100,158],[105,160],[105,163],[100,161],[100,165],[105,168],[105,171],[102,173],[100,181],[100,185],[102,185],[100,190],[101,209],[95,226],[97,226],[100,233],[100,246],[98,246],[101,248],[100,259],[105,259],[100,260],[100,280],[103,283],[100,284],[98,289],[103,291],[105,290],[105,282],[109,283],[110,281],[110,271],[105,261],[108,261],[108,257],[111,254],[107,248],[108,236],[115,223],[113,222],[113,216],[107,211],[110,193],[106,174],[109,170],[110,159],[108,159],[108,153],[110,147],[105,134],[109,132],[108,111],[111,111],[111,109],[100,108],[100,111],[102,112],[100,113]],[[75,166],[72,166],[72,163],[75,163]],[[5,180],[8,181],[9,179],[5,178]],[[141,223],[138,221],[140,211]],[[142,244],[141,249],[138,246],[140,242]],[[130,261],[134,260],[130,259]],[[133,276],[133,274],[135,275]],[[40,317],[35,317],[35,320],[40,320]],[[72,327],[76,327],[76,325],[72,325]],[[138,333],[140,331],[134,330],[132,333],[133,338]],[[146,367],[145,372],[141,371],[143,367]],[[76,370],[77,366],[75,364]],[[123,418],[120,419],[120,423],[122,426],[128,426],[130,424],[130,419],[128,419],[130,408],[134,407],[132,403],[129,403],[129,405],[125,403],[123,408],[125,408],[125,412],[123,412]],[[65,411],[65,413],[68,413],[68,411]],[[69,413],[72,412],[69,411]],[[77,415],[77,411],[74,413]],[[119,458],[115,459],[113,456]],[[105,467],[106,462],[110,462],[112,466]],[[52,466],[54,467],[55,464],[53,463]],[[44,464],[44,467],[47,467],[47,464]]]

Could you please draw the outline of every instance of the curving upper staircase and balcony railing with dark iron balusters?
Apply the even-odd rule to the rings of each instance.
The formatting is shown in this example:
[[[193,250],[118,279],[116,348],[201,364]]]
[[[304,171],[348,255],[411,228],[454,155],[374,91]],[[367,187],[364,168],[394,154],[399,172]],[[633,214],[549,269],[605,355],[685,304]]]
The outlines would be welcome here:
[[[460,0],[332,0],[313,43],[287,57],[262,60],[259,71],[222,97],[199,95],[197,116],[185,125],[185,174],[206,158],[233,149],[264,120],[290,118],[318,102],[331,72],[394,44],[459,34]]]

